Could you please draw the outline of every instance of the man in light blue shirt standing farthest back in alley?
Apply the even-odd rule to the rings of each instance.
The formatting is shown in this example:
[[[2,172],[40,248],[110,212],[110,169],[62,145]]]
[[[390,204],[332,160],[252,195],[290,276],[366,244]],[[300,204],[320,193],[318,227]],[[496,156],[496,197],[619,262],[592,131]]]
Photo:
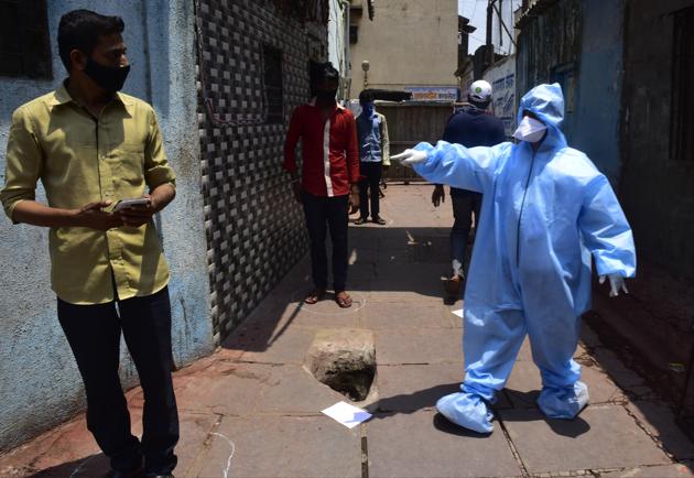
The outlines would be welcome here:
[[[371,205],[371,220],[383,226],[386,220],[380,216],[379,186],[383,169],[390,166],[390,144],[388,141],[388,124],[386,117],[376,112],[373,95],[364,90],[359,95],[361,113],[357,117],[357,135],[359,138],[359,218],[357,226],[369,218],[369,203]],[[369,202],[370,194],[370,202]]]

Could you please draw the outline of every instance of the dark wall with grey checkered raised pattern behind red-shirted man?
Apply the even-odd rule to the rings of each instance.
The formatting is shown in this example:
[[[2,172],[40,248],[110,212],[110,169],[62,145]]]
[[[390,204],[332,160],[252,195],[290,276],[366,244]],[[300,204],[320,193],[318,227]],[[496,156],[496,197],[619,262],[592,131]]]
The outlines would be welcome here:
[[[200,0],[197,14],[202,187],[220,340],[306,252],[303,214],[282,170],[283,145],[291,112],[307,100],[308,59],[325,57],[327,40],[325,25],[284,18],[269,0]],[[263,44],[282,52],[281,123],[267,118]]]

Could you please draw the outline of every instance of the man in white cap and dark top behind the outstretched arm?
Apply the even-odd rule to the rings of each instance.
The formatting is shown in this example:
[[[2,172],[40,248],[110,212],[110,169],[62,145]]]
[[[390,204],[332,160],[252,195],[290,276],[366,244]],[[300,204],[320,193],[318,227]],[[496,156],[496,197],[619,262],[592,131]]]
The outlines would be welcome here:
[[[455,112],[446,122],[443,140],[448,143],[463,144],[465,148],[494,146],[503,142],[506,138],[503,123],[487,112],[491,101],[491,85],[484,79],[473,83],[467,95],[467,101],[468,105]],[[441,203],[445,202],[445,198],[443,184],[437,184],[432,194],[432,203],[438,207]],[[451,187],[454,218],[451,229],[453,272],[445,282],[445,289],[452,298],[457,300],[460,296],[465,279],[467,239],[473,226],[473,214],[475,214],[475,229],[478,229],[481,199],[480,193]]]

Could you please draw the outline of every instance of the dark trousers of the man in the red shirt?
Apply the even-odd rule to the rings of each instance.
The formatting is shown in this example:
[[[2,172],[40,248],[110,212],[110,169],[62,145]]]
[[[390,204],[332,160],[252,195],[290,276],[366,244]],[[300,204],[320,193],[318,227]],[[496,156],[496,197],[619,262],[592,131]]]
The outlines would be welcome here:
[[[311,267],[316,289],[327,289],[326,226],[333,241],[333,285],[335,293],[347,283],[347,224],[349,196],[323,197],[302,193],[306,228],[311,239]]]

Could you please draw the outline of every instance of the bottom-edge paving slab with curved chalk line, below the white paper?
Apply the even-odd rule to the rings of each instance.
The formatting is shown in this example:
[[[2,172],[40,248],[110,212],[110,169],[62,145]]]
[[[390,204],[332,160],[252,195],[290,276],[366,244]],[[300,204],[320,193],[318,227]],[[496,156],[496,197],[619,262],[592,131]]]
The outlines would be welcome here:
[[[327,416],[224,417],[208,453],[188,476],[361,477],[360,428]]]

